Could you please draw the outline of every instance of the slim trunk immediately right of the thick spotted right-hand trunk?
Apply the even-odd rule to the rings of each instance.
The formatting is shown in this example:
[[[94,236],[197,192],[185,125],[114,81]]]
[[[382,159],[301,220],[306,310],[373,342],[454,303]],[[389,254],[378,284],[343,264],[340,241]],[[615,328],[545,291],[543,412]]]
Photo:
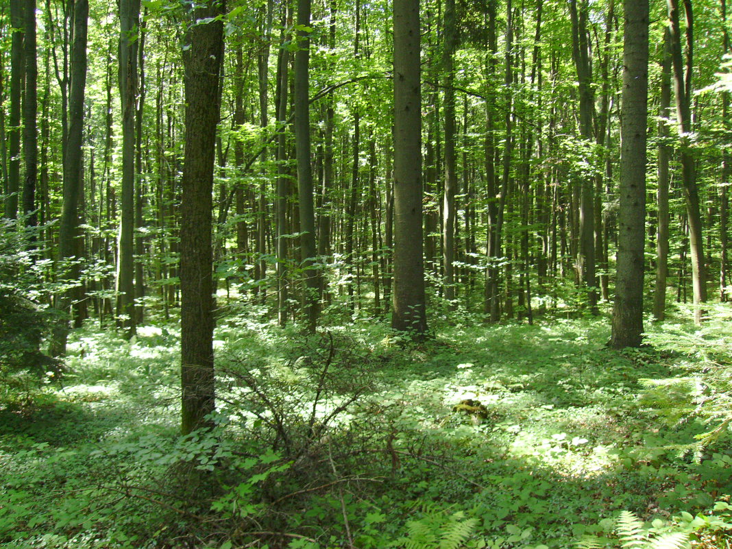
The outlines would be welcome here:
[[[668,163],[671,160],[671,135],[668,124],[671,108],[671,31],[666,27],[661,62],[661,95],[658,122],[658,226],[656,234],[656,282],[653,293],[653,315],[662,321],[666,310],[666,277],[668,276]]]

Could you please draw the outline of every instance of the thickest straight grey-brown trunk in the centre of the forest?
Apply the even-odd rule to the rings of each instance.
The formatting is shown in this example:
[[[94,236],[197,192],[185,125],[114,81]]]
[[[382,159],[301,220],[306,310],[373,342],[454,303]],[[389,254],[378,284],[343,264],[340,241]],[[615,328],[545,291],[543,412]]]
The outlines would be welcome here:
[[[394,295],[392,328],[424,337],[419,0],[394,2]]]

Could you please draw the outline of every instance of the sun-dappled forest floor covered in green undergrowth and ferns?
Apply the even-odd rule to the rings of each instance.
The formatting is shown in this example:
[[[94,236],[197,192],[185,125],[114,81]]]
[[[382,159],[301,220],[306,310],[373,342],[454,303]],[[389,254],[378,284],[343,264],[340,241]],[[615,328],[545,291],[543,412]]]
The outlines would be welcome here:
[[[0,547],[729,548],[732,311],[682,316],[617,352],[607,318],[415,343],[232,315],[187,438],[176,325],[90,325],[0,401]]]

